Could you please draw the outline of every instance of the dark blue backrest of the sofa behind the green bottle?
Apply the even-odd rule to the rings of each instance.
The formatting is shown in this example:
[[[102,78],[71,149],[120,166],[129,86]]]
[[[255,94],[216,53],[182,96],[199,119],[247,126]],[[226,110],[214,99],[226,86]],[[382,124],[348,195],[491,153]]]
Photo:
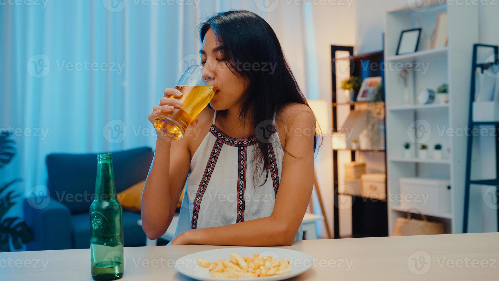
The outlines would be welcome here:
[[[153,159],[150,147],[112,152],[116,193],[146,179]],[[97,154],[49,154],[46,157],[50,197],[71,214],[88,214],[95,193]]]

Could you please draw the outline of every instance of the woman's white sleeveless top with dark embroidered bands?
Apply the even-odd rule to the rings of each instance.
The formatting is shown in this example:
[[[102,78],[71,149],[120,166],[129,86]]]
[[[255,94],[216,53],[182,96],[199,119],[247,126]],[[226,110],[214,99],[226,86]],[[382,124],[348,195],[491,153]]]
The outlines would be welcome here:
[[[213,115],[210,131],[191,159],[184,199],[175,237],[190,229],[218,227],[268,217],[279,188],[284,151],[277,132],[267,145],[269,173],[258,186],[253,185],[253,153],[256,137],[238,139],[227,136],[216,125]],[[274,124],[275,113],[272,120]],[[302,227],[295,240],[302,240]]]

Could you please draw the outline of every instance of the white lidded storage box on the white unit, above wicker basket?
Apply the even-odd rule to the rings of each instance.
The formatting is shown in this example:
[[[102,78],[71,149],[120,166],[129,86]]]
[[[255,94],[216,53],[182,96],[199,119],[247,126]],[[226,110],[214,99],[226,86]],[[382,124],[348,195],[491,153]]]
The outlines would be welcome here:
[[[449,180],[400,178],[402,208],[417,208],[422,213],[451,213]]]

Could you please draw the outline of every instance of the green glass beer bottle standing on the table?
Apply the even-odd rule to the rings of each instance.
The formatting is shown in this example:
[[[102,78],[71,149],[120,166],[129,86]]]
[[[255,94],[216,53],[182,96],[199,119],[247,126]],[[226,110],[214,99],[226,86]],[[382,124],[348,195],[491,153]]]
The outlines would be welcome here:
[[[123,211],[116,200],[110,153],[97,154],[95,198],[90,205],[90,262],[93,280],[123,276]]]

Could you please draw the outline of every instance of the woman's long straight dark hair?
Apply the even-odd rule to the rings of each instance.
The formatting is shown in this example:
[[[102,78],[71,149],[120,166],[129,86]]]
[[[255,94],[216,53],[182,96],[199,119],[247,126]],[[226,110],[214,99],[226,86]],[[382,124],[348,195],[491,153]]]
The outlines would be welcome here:
[[[239,118],[243,124],[254,128],[260,122],[272,120],[275,111],[279,112],[289,103],[308,103],[298,87],[298,83],[284,58],[281,45],[270,25],[257,14],[248,10],[219,12],[200,24],[201,42],[208,29],[212,28],[219,45],[224,46],[222,55],[225,63],[236,75],[248,81]],[[260,67],[241,67],[244,63]],[[249,64],[248,64],[249,63]],[[275,65],[272,71],[270,65]],[[221,111],[221,115],[225,112]],[[248,120],[251,118],[251,120]],[[317,135],[314,133],[314,152],[317,149]],[[259,173],[268,177],[267,143],[256,138],[258,148],[254,155],[253,180]],[[288,153],[289,154],[289,153]],[[263,183],[261,185],[263,185]],[[255,184],[256,186],[256,184]]]

